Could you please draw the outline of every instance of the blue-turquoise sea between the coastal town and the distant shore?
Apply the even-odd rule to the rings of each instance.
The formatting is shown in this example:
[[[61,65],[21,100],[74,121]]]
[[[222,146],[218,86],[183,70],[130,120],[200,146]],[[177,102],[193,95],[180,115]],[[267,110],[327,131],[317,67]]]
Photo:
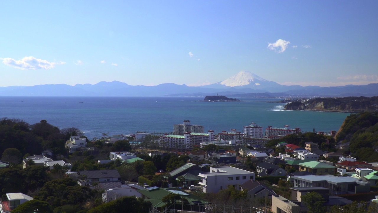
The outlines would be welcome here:
[[[278,99],[246,102],[198,102],[203,97],[0,97],[0,117],[40,120],[59,128],[77,127],[92,139],[102,133],[172,132],[174,124],[190,120],[205,132],[260,126],[299,127],[302,132],[338,130],[349,113],[283,110]],[[79,103],[84,102],[84,103]]]

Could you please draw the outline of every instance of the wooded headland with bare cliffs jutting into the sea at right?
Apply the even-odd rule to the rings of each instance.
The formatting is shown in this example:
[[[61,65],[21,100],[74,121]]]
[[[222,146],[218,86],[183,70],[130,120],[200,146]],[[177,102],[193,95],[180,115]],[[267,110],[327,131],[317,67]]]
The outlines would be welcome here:
[[[315,98],[304,102],[294,101],[285,105],[287,110],[324,110],[340,112],[378,111],[378,96]]]

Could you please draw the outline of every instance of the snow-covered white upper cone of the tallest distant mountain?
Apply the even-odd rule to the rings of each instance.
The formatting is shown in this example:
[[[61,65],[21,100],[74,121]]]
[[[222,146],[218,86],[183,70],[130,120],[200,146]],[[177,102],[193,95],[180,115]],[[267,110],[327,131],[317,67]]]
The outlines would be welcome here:
[[[230,87],[246,86],[249,84],[254,85],[254,86],[259,86],[263,82],[270,82],[270,81],[267,81],[253,74],[252,72],[242,71],[232,76],[231,78],[228,78],[227,80],[221,81],[219,84],[230,86]]]

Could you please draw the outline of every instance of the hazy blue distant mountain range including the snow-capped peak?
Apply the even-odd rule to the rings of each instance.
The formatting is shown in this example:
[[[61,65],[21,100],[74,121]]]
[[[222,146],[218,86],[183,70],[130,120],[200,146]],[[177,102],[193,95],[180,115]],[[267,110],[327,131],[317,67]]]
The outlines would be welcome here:
[[[95,85],[66,84],[0,87],[0,96],[214,96],[228,97],[345,97],[378,96],[378,83],[335,87],[285,86],[242,71],[224,81],[206,86],[164,83],[132,86],[120,81],[101,81]]]

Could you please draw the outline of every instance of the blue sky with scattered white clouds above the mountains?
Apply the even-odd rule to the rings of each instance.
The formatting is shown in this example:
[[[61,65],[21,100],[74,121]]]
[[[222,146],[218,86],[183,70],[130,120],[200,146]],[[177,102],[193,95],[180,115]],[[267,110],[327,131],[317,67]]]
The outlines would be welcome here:
[[[378,1],[2,1],[0,86],[378,83]]]

